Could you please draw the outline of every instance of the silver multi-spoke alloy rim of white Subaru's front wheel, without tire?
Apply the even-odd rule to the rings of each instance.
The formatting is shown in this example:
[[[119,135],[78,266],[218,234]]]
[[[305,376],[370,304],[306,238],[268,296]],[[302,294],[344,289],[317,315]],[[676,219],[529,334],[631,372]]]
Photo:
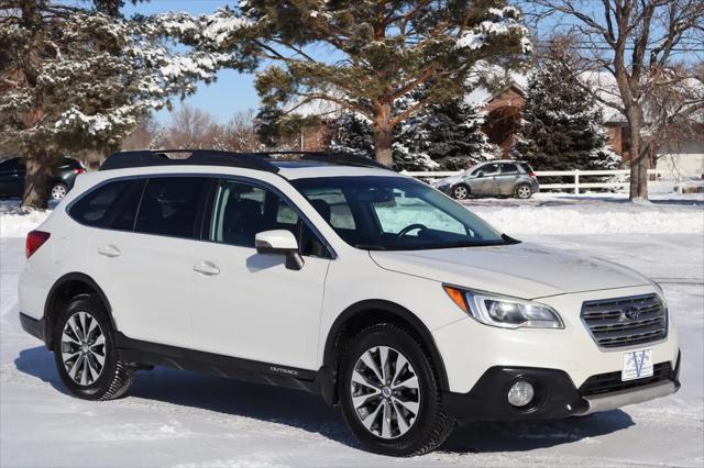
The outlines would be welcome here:
[[[406,356],[392,347],[375,346],[360,356],[350,391],[360,422],[377,437],[400,437],[418,419],[418,376]]]

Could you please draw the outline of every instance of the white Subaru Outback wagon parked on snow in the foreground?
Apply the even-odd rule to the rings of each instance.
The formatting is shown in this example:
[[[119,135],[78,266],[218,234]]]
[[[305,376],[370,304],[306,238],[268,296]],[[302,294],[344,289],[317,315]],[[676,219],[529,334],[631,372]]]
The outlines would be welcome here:
[[[367,159],[118,153],[26,256],[22,325],[84,399],[124,394],[138,369],[215,372],[319,393],[364,447],[407,456],[457,419],[583,415],[680,387],[654,282],[499,234]]]

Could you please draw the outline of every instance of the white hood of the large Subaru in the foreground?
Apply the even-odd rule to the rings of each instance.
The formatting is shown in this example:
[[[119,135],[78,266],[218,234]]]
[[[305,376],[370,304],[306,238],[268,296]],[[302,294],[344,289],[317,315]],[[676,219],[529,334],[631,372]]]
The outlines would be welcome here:
[[[530,243],[370,255],[387,270],[524,299],[651,283],[629,268]]]

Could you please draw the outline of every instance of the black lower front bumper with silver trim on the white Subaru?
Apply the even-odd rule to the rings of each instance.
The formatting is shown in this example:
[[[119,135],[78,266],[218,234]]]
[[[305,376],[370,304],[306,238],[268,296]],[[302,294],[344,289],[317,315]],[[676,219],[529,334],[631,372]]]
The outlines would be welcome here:
[[[593,376],[578,389],[562,370],[493,367],[468,393],[446,392],[443,405],[450,414],[473,421],[551,420],[591,414],[676,392],[680,389],[680,355],[674,369],[669,363],[661,363],[660,369],[652,378],[624,382],[623,389],[603,391],[614,388],[613,372]],[[506,399],[508,390],[518,380],[526,380],[535,388],[535,398],[525,408],[515,408]],[[594,381],[608,382],[608,387],[600,389]]]

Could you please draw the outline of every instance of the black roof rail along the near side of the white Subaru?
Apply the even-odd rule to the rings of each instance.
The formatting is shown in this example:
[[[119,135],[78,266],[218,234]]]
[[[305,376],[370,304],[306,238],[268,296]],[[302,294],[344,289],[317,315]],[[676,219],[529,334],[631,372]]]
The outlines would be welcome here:
[[[187,158],[173,159],[172,153],[190,153]],[[230,166],[245,169],[278,172],[271,160],[252,153],[221,152],[215,149],[139,149],[113,153],[102,163],[99,170],[127,169],[145,166]]]

